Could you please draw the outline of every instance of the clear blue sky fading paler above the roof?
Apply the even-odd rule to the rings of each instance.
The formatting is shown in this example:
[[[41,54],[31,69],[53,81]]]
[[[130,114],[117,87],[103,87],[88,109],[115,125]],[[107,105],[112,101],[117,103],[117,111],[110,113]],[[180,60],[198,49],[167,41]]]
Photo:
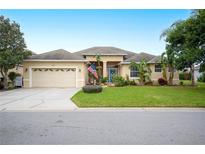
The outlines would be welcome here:
[[[159,55],[160,34],[190,10],[0,10],[15,20],[27,48],[36,53],[55,49],[70,52],[93,46],[114,46]]]

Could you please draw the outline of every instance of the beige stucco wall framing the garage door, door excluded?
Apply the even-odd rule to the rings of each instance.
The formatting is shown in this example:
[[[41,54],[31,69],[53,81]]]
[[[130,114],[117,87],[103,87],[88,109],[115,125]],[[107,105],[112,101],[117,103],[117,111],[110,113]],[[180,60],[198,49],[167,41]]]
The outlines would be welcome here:
[[[85,73],[86,67],[84,62],[23,62],[23,77],[24,77],[24,87],[29,88],[29,70],[30,68],[77,68],[77,87],[82,87],[85,85]]]

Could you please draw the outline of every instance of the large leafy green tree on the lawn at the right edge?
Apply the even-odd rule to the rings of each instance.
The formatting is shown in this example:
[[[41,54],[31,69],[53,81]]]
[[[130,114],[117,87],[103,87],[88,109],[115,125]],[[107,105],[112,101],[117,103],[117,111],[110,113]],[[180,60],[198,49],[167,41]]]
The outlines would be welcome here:
[[[194,86],[195,64],[200,64],[200,71],[205,70],[205,10],[194,10],[188,19],[175,22],[162,36],[166,50],[176,55],[176,68],[190,68]]]

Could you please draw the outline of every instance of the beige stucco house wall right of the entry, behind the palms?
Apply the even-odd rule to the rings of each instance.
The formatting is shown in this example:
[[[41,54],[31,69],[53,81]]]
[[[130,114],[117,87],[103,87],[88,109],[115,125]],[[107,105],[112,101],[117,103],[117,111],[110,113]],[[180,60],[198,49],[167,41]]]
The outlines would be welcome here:
[[[162,72],[155,72],[155,64],[150,64],[150,69],[152,71],[151,73],[151,80],[154,81],[154,84],[158,84],[158,79],[162,77]],[[124,78],[126,78],[126,75],[129,76],[130,79],[136,79],[136,78],[131,78],[130,77],[130,69],[129,69],[129,64],[123,64],[120,66],[120,75]],[[169,78],[170,73],[167,72],[167,78]],[[174,73],[174,79],[173,79],[174,84],[179,83],[179,72],[176,71]]]

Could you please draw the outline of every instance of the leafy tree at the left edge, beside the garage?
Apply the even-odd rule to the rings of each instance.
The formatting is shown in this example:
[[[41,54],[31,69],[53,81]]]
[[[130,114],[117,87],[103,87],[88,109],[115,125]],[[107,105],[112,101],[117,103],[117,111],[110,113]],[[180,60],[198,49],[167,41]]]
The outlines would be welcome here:
[[[0,16],[0,72],[5,89],[8,88],[8,70],[20,65],[24,58],[31,55],[25,48],[19,24]]]

